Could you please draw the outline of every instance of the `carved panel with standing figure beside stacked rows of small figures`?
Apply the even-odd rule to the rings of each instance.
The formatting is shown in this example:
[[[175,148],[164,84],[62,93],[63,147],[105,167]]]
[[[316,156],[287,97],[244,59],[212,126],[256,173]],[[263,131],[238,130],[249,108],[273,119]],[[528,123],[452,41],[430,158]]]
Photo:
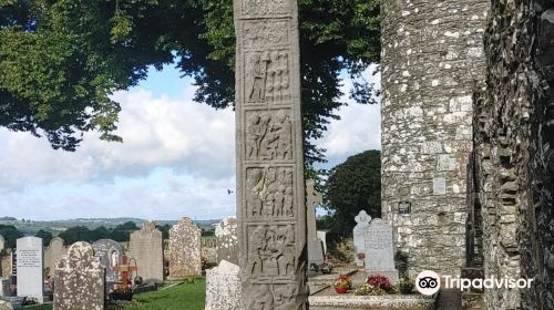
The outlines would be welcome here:
[[[280,102],[290,99],[288,52],[252,52],[246,55],[246,101]]]

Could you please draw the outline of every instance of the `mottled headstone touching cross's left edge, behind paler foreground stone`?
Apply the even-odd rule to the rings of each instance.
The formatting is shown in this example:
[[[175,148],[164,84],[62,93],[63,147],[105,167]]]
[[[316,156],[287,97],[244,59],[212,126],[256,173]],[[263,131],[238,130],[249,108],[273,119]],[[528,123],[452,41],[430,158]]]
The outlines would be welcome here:
[[[238,220],[226,217],[215,227],[217,264],[222,260],[238,265]]]

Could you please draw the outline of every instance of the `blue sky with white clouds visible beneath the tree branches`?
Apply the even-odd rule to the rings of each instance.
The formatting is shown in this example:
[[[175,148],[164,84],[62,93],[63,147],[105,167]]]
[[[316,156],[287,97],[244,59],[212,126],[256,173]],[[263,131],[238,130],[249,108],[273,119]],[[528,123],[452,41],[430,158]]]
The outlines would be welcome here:
[[[371,76],[370,70],[367,76]],[[345,81],[345,92],[350,85]],[[191,79],[172,65],[114,94],[117,134],[88,133],[74,153],[0,128],[0,216],[50,220],[90,217],[222,218],[235,214],[234,113],[193,102]],[[317,144],[331,167],[380,148],[378,105],[349,104]]]

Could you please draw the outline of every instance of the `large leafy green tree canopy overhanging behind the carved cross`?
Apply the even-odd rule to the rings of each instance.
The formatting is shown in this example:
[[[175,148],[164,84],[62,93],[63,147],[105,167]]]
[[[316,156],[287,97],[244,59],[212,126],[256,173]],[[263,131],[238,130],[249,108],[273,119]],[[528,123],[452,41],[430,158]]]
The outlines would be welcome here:
[[[120,105],[110,99],[176,63],[198,86],[196,101],[234,103],[235,33],[230,0],[4,0],[0,2],[0,126],[44,134],[74,151],[82,133],[121,141]],[[302,116],[308,167],[343,103],[342,70],[379,62],[378,0],[300,0]],[[360,80],[352,96],[373,103]]]

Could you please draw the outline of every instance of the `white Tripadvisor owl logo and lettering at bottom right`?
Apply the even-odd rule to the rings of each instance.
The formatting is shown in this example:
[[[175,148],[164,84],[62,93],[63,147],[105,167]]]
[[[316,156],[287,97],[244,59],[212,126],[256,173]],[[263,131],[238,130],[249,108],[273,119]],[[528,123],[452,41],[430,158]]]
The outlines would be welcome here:
[[[445,289],[530,289],[533,279],[499,279],[495,277],[486,277],[484,279],[475,278],[454,278],[452,276],[443,276],[442,287]],[[416,288],[424,296],[437,293],[441,288],[441,277],[431,270],[423,270],[416,278]]]

